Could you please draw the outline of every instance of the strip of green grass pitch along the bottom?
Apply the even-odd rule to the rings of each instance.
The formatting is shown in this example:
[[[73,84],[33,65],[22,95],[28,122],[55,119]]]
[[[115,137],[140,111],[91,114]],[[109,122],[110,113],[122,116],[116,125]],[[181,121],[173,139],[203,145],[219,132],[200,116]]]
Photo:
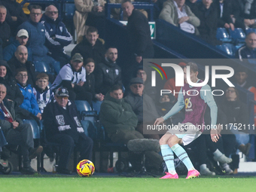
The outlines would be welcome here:
[[[24,176],[0,175],[0,191],[10,192],[59,192],[59,191],[255,191],[256,177],[218,177],[193,179],[124,178],[96,177],[81,178],[73,176]]]

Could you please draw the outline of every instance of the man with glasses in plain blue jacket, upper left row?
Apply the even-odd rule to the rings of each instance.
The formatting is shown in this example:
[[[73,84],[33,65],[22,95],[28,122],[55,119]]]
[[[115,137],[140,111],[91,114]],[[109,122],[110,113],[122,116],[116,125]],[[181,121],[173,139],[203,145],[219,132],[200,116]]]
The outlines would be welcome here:
[[[41,6],[32,5],[30,7],[29,20],[22,23],[18,29],[26,29],[29,33],[29,45],[32,50],[32,60],[37,62],[47,62],[56,72],[59,73],[59,62],[56,62],[52,57],[47,56],[48,49],[44,46],[45,28],[40,23],[42,17]]]

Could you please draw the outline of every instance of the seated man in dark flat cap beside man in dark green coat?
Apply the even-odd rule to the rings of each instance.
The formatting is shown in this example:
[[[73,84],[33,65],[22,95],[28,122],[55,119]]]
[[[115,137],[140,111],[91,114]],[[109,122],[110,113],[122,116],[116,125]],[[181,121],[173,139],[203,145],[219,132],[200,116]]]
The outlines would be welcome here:
[[[157,114],[157,108],[154,105],[153,99],[143,93],[144,84],[142,78],[132,78],[130,81],[130,90],[131,92],[124,98],[124,100],[132,106],[134,113],[138,117],[136,130],[143,134],[143,123],[154,123],[152,120],[154,120],[155,117],[159,117],[159,114]],[[149,139],[160,139],[157,134],[147,134],[143,136]]]

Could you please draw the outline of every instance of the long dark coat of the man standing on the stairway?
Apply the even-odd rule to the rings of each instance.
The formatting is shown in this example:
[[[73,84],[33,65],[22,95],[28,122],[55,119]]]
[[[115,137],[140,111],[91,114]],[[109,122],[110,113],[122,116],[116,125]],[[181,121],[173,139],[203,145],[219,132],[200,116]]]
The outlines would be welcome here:
[[[133,13],[128,18],[127,32],[132,52],[143,58],[153,58],[154,47],[148,19],[142,12],[133,9]]]

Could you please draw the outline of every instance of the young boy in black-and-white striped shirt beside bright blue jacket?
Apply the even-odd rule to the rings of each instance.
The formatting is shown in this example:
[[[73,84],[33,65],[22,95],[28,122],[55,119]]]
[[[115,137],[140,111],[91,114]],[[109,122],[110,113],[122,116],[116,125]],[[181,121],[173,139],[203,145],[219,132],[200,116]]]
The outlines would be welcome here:
[[[38,107],[41,111],[41,114],[44,112],[44,108],[48,103],[50,103],[54,94],[52,90],[48,88],[49,76],[46,73],[39,73],[36,76],[35,87],[33,88],[33,93],[35,99],[38,102]]]

